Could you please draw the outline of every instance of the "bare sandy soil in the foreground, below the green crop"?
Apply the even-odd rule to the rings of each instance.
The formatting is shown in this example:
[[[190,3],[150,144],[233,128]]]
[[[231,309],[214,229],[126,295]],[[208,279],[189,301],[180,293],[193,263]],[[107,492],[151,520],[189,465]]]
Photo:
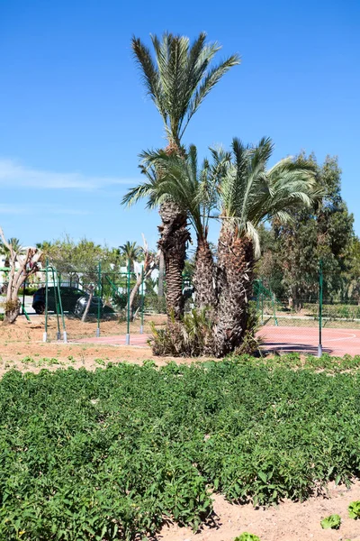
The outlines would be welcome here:
[[[157,536],[158,541],[233,541],[243,532],[256,534],[261,541],[360,541],[360,521],[348,518],[351,501],[360,500],[360,481],[347,490],[329,484],[326,498],[300,502],[284,501],[277,507],[254,509],[251,504],[232,505],[222,496],[214,496],[214,516],[209,526],[194,534],[189,528],[170,525]],[[320,526],[320,520],[338,514],[339,530]]]

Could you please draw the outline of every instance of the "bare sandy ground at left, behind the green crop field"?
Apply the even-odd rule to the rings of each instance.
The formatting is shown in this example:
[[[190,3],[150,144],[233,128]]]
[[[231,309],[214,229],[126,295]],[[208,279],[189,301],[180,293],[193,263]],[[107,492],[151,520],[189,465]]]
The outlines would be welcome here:
[[[164,325],[166,316],[146,316],[144,333],[150,333],[150,323],[157,328]],[[0,377],[5,371],[17,369],[20,371],[38,372],[42,368],[57,370],[72,366],[84,366],[94,370],[108,362],[135,362],[141,364],[147,359],[154,360],[158,366],[171,361],[170,357],[154,357],[149,347],[133,347],[111,344],[74,344],[71,340],[94,337],[96,322],[81,323],[77,319],[67,319],[68,344],[57,342],[57,322],[49,318],[48,335],[51,342],[43,343],[42,335],[45,329],[44,316],[31,316],[31,323],[23,317],[12,326],[0,324]],[[101,335],[121,335],[126,333],[126,323],[106,321],[101,324]],[[130,324],[130,335],[139,335],[139,321]],[[175,359],[176,362],[193,362],[193,359]]]

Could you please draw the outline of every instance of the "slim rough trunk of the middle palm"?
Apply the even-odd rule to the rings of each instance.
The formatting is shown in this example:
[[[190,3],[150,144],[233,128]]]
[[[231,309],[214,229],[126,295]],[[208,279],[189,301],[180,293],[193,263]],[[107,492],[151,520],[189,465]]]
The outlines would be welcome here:
[[[198,238],[197,241],[193,286],[196,307],[210,307],[213,310],[217,305],[215,265],[211,248],[205,239]]]

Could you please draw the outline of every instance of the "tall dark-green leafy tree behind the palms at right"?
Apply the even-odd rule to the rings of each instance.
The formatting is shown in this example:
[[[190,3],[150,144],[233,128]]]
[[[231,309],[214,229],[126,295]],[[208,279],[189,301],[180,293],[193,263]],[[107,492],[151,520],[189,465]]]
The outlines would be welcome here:
[[[259,267],[261,274],[264,261],[276,261],[267,277],[274,283],[282,274],[283,294],[289,299],[289,306],[295,309],[301,308],[305,301],[317,298],[320,259],[325,277],[324,296],[346,298],[347,259],[354,239],[354,217],[348,213],[347,204],[341,197],[338,159],[328,156],[322,166],[314,155],[306,157],[302,154],[297,160],[315,168],[325,195],[312,209],[293,210],[292,221],[288,224],[281,225],[273,220],[273,243],[263,252]]]

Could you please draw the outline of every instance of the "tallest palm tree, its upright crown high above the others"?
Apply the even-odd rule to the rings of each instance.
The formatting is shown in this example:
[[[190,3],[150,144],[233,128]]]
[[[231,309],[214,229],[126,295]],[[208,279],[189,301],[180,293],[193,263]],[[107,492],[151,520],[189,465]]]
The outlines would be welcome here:
[[[157,107],[166,131],[166,153],[184,157],[182,138],[191,118],[220,78],[239,63],[238,55],[231,55],[211,68],[211,61],[220,50],[218,43],[206,43],[206,34],[190,44],[187,37],[164,33],[160,40],[151,36],[155,52],[153,58],[148,47],[139,38],[132,39],[132,50],[141,70],[148,96]],[[156,171],[161,176],[161,170]],[[159,209],[162,224],[158,227],[158,246],[163,252],[166,270],[167,313],[182,316],[182,271],[185,247],[190,239],[186,227],[186,213],[172,199],[164,201]]]

